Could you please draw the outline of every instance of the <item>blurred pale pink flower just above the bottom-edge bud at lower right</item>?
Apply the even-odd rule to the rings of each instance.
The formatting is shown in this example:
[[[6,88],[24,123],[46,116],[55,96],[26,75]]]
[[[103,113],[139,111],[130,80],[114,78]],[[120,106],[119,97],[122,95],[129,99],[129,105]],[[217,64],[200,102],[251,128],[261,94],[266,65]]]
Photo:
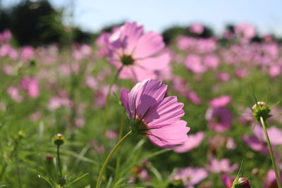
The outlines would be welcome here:
[[[212,173],[233,173],[238,167],[238,163],[231,165],[228,158],[222,158],[220,161],[216,158],[211,158],[206,165],[206,169]]]

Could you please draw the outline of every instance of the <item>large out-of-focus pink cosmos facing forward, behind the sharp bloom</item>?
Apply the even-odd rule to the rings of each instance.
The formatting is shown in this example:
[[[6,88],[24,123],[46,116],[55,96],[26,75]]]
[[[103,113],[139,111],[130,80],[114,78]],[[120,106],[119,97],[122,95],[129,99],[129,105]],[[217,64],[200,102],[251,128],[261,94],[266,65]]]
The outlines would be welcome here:
[[[156,78],[156,70],[167,67],[171,56],[169,53],[159,54],[164,49],[161,35],[156,32],[146,32],[143,26],[136,23],[125,23],[116,29],[109,37],[109,62],[118,70],[119,77],[135,78],[138,81],[146,78]]]

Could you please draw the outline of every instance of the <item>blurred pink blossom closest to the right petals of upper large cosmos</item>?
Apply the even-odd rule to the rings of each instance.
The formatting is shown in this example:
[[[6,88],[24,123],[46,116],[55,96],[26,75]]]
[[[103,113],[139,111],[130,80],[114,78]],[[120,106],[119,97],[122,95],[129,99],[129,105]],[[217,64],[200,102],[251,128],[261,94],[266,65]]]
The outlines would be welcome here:
[[[202,74],[206,71],[206,67],[202,63],[202,59],[197,55],[188,55],[184,61],[185,67],[192,73]]]

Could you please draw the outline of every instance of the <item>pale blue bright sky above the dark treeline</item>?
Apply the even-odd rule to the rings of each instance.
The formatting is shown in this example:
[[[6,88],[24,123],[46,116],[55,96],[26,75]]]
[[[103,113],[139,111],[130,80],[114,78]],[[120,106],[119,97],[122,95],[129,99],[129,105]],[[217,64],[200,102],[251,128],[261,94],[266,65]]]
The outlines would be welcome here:
[[[8,4],[2,0],[2,4]],[[35,0],[33,0],[35,1]],[[282,36],[281,0],[50,0],[56,7],[74,7],[75,25],[99,31],[123,20],[145,25],[145,30],[161,32],[171,25],[204,23],[216,32],[227,23],[247,22],[262,33]],[[11,4],[11,3],[10,3]]]

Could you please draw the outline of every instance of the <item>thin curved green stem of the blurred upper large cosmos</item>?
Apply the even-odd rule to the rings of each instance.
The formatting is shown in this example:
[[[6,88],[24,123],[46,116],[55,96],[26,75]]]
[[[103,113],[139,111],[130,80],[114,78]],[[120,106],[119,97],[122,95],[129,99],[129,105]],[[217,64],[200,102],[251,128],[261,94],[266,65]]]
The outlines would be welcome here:
[[[106,94],[106,104],[105,104],[105,111],[104,111],[104,121],[103,121],[103,147],[104,147],[104,156],[106,155],[106,123],[108,119],[108,104],[109,104],[109,99],[111,96],[111,87],[113,87],[114,83],[118,79],[119,73],[121,73],[121,70],[123,69],[123,66],[118,69],[118,72],[116,73],[113,82],[111,82],[109,86],[109,91],[108,94]]]

